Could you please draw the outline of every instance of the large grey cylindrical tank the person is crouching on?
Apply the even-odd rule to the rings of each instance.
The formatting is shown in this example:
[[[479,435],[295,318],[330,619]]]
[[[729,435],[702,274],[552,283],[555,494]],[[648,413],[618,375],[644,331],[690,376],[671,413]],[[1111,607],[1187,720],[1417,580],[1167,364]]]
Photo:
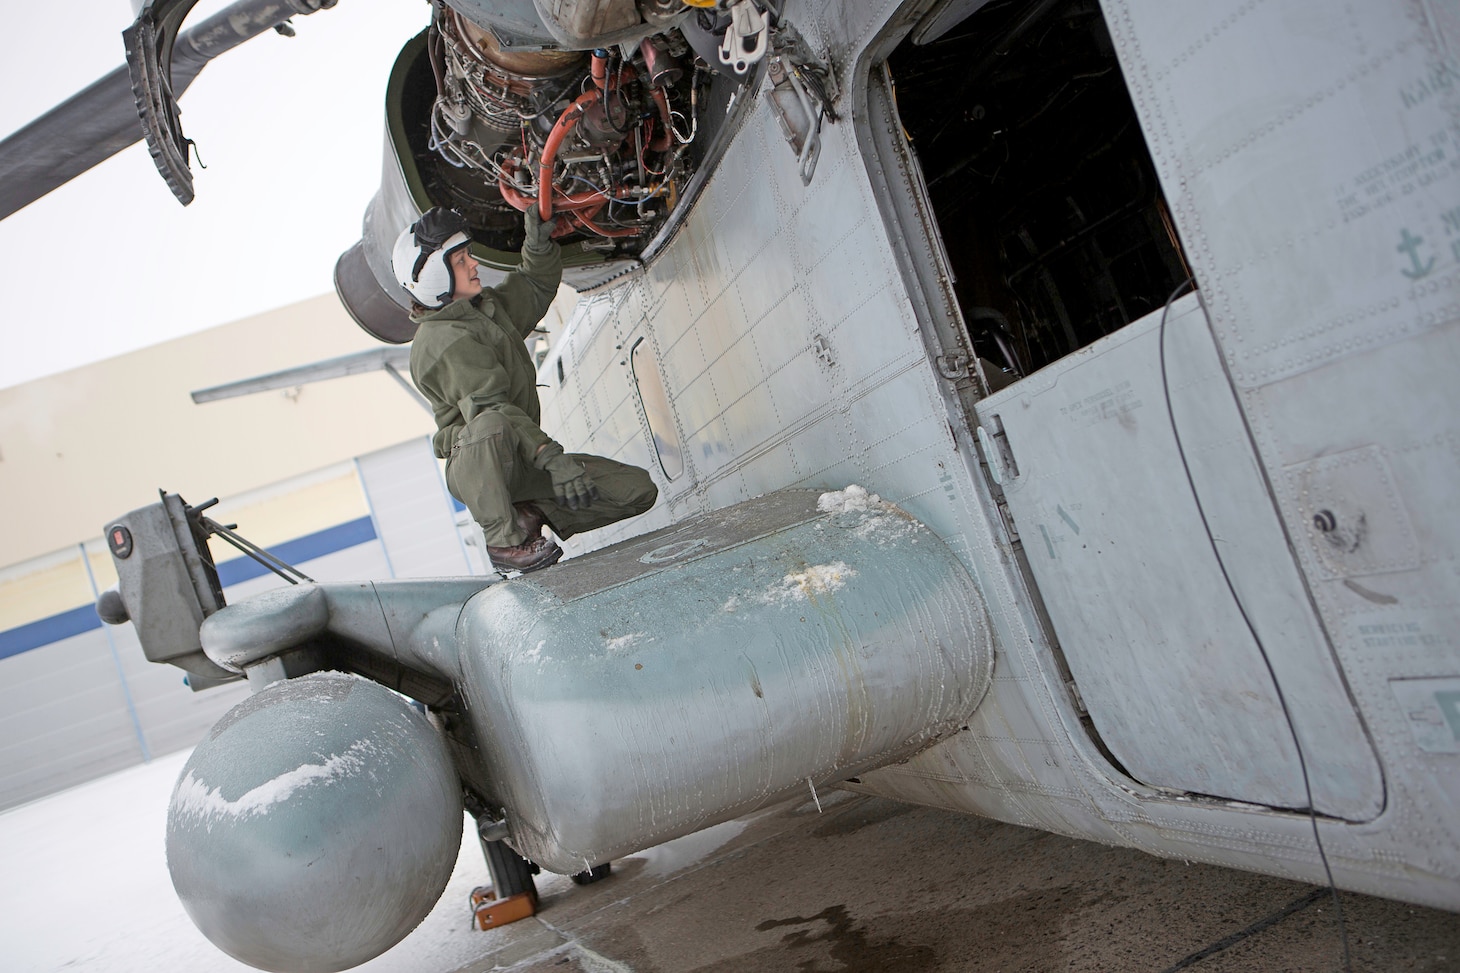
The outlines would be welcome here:
[[[968,571],[858,489],[495,584],[454,649],[510,844],[569,874],[905,758],[958,730],[993,669]]]

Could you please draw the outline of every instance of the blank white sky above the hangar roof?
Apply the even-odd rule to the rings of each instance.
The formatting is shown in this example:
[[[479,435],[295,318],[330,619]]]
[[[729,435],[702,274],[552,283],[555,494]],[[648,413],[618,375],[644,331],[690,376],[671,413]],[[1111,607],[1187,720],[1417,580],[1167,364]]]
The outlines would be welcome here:
[[[131,19],[10,4],[0,137],[123,64]],[[385,76],[428,22],[425,0],[339,0],[212,61],[181,98],[209,165],[191,206],[137,143],[0,222],[0,389],[331,291],[380,186]]]

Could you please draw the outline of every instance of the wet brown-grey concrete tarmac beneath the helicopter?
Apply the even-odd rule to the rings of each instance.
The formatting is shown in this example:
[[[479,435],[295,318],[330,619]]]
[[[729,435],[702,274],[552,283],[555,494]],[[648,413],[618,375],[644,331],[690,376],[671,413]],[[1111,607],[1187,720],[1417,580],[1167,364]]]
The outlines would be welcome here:
[[[847,792],[821,802],[618,861],[594,885],[540,875],[539,915],[479,934],[457,973],[1345,970],[1327,890]],[[1460,915],[1340,898],[1353,973],[1460,970]]]

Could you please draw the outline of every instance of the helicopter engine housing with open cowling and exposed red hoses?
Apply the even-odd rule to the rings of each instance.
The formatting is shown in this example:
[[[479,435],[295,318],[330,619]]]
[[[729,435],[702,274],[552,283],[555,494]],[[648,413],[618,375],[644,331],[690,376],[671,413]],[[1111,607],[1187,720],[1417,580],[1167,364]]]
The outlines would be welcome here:
[[[762,77],[810,181],[838,85],[780,3],[434,0],[391,69],[381,190],[336,264],[340,301],[375,337],[412,339],[388,254],[432,206],[466,216],[486,286],[517,267],[529,206],[556,218],[569,286],[632,273],[673,235]]]

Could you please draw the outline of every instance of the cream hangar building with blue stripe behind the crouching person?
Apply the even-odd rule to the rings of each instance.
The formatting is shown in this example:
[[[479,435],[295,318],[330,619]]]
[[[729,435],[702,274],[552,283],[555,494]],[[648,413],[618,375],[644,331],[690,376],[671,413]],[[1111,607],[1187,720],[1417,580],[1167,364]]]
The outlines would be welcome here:
[[[485,571],[431,416],[385,373],[190,396],[378,348],[328,295],[0,389],[0,809],[191,747],[248,692],[193,692],[96,617],[117,581],[102,530],[159,489],[219,497],[210,517],[320,581]],[[212,548],[229,602],[285,583]]]

